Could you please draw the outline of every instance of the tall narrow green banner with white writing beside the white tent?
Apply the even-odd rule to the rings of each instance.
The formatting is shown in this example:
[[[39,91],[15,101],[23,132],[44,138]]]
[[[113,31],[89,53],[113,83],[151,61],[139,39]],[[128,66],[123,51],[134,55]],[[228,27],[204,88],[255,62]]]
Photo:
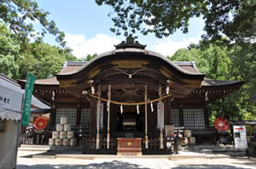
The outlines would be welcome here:
[[[24,102],[23,102],[23,111],[22,111],[22,120],[21,120],[22,127],[29,126],[31,100],[32,100],[32,93],[33,93],[35,81],[36,81],[36,76],[33,76],[32,74],[28,73],[26,76],[26,88],[25,88],[25,96],[24,96]]]

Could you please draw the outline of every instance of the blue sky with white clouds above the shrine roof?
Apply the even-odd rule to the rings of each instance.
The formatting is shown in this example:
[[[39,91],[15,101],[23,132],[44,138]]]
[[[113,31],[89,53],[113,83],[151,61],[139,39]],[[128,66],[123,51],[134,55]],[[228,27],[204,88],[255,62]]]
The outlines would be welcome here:
[[[95,0],[38,0],[39,8],[48,11],[49,20],[54,20],[61,31],[66,34],[67,46],[73,49],[78,58],[87,54],[102,54],[113,50],[114,44],[125,40],[109,30],[113,26],[108,13],[112,8],[97,6]],[[178,48],[186,48],[191,42],[198,42],[203,33],[202,19],[192,19],[189,22],[189,33],[177,31],[167,38],[156,38],[154,34],[143,36],[137,33],[138,41],[147,44],[148,50],[163,55],[172,55]],[[37,26],[38,27],[38,26]],[[56,44],[54,37],[47,36],[44,42]]]

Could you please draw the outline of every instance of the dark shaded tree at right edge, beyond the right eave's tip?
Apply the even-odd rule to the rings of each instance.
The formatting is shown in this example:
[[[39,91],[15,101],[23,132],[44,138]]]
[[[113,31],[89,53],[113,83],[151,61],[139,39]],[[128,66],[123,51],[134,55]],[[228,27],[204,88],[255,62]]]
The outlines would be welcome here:
[[[253,44],[240,46],[235,44],[230,54],[230,71],[231,80],[244,81],[244,85],[239,91],[230,95],[228,99],[234,107],[239,109],[242,120],[255,120],[256,104],[250,103],[248,100],[256,91],[256,49]]]

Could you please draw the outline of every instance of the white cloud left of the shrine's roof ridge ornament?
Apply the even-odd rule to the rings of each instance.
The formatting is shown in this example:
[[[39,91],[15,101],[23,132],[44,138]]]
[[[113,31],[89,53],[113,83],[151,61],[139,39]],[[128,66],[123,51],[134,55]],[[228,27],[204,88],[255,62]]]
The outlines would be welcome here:
[[[113,45],[120,42],[119,39],[105,34],[97,34],[96,37],[86,39],[83,34],[65,33],[65,40],[67,46],[73,49],[73,55],[79,59],[87,56],[87,54],[102,54],[113,50]]]

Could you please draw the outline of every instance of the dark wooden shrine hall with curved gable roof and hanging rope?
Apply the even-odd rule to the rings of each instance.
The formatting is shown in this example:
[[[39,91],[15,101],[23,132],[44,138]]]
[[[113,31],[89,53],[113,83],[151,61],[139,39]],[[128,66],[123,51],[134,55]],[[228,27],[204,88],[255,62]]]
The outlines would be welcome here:
[[[199,144],[214,138],[207,105],[243,82],[208,79],[195,62],[172,62],[145,47],[121,42],[89,62],[65,62],[55,77],[37,80],[33,94],[51,104],[49,123],[67,116],[83,131],[84,153],[165,154],[168,125],[191,130]],[[22,87],[25,82],[19,81]]]

